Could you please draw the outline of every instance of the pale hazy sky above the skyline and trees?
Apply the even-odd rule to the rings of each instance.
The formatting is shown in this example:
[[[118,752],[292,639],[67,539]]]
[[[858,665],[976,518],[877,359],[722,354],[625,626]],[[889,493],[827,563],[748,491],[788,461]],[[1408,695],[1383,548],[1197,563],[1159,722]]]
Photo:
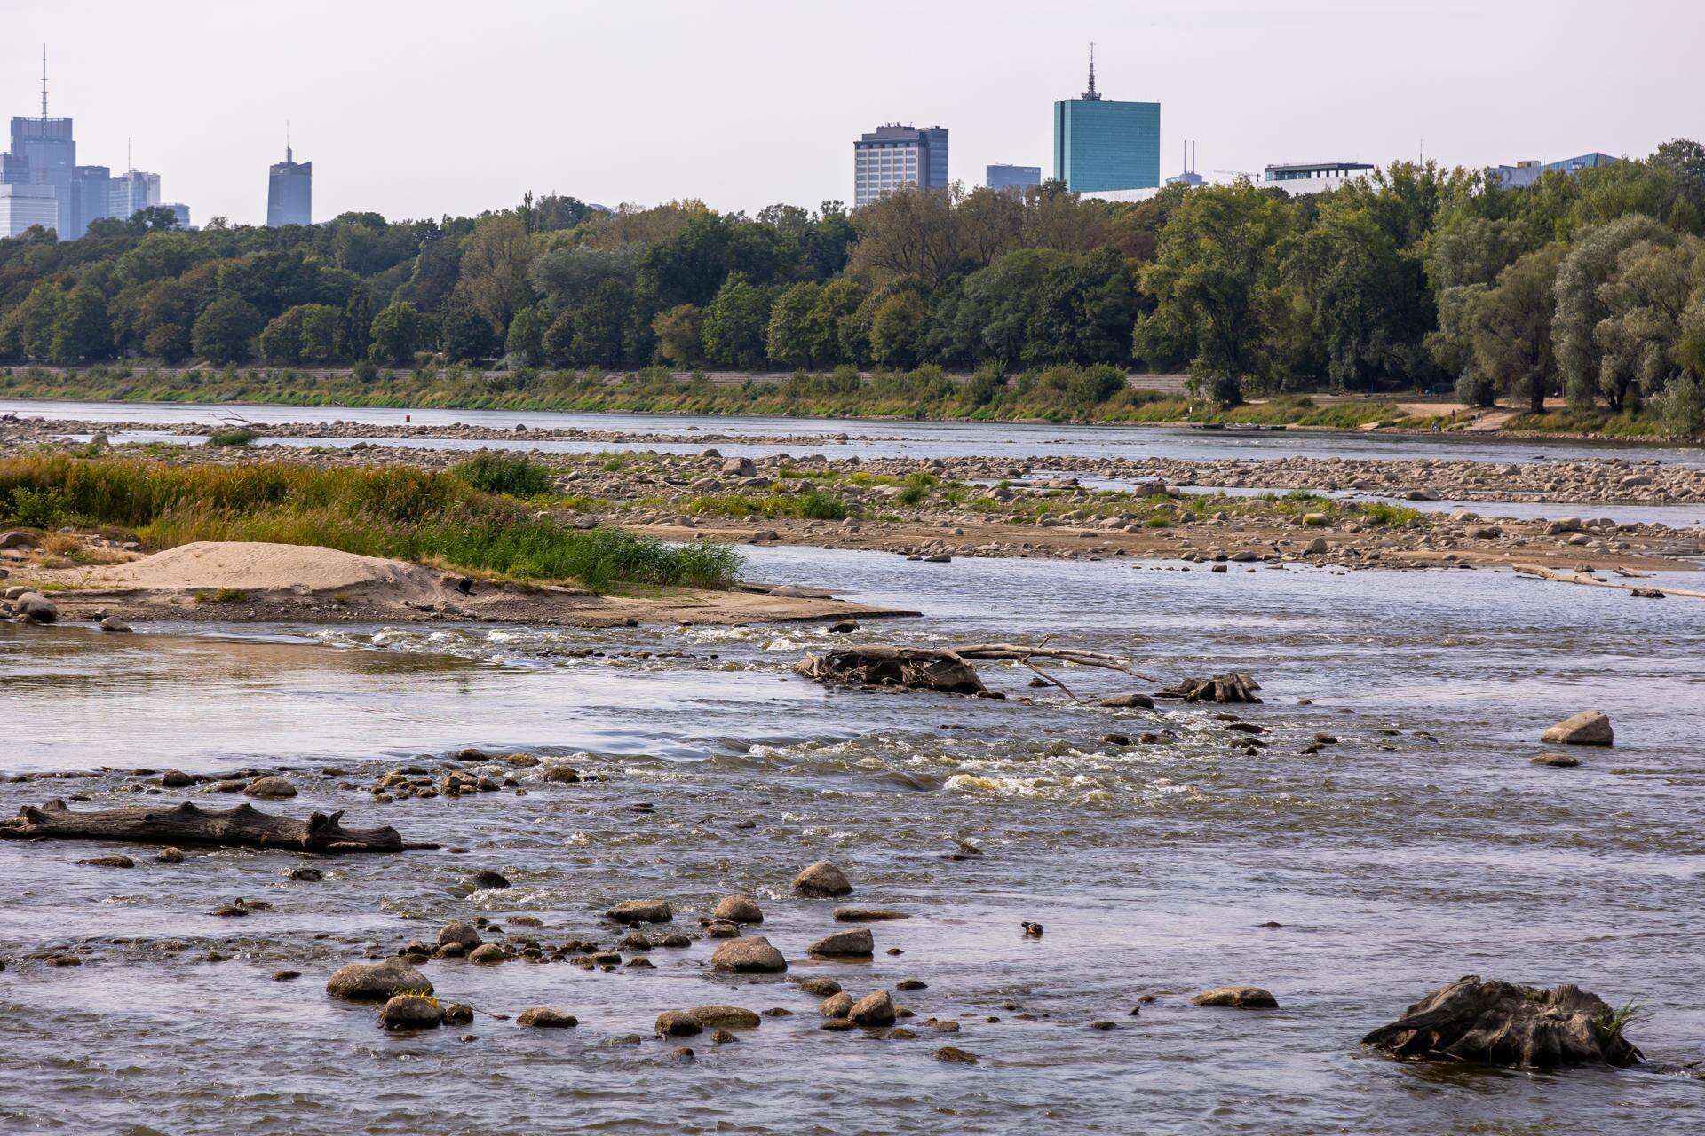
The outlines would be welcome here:
[[[1485,165],[1705,136],[1700,0],[0,0],[0,114],[77,119],[78,162],[162,174],[198,223],[477,213],[527,189],[851,199],[852,138],[943,124],[955,179],[1042,165],[1052,100],[1161,102],[1161,170],[1425,153]]]

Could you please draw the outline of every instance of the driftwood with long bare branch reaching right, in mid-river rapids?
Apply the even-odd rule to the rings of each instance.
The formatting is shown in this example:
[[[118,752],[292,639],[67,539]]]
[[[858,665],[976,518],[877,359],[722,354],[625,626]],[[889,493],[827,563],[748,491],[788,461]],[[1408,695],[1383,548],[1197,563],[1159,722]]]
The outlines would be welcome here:
[[[977,676],[974,661],[1018,663],[1035,671],[1050,686],[1059,686],[1081,702],[1066,683],[1054,678],[1037,661],[1093,666],[1122,671],[1136,678],[1149,678],[1136,671],[1129,659],[1100,651],[1049,647],[1040,644],[967,644],[963,647],[842,647],[825,654],[806,654],[795,671],[818,683],[844,686],[897,686],[900,690],[934,690],[950,695],[985,695],[987,688]],[[1149,680],[1154,681],[1154,680]]]

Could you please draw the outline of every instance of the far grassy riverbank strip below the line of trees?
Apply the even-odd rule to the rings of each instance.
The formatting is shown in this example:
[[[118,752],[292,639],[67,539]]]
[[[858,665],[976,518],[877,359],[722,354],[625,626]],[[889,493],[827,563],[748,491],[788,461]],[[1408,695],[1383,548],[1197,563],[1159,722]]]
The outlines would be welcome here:
[[[1071,368],[1055,368],[1064,375]],[[191,402],[215,405],[303,405],[467,409],[515,412],[622,412],[702,416],[783,416],[810,419],[897,419],[962,422],[1050,422],[1108,426],[1200,426],[1344,429],[1396,434],[1502,434],[1512,438],[1587,438],[1664,441],[1674,434],[1656,414],[1608,410],[1546,414],[1523,407],[1465,407],[1419,395],[1284,393],[1240,407],[1214,407],[1171,390],[1127,385],[1086,397],[1066,382],[1032,376],[979,387],[938,368],[878,371],[851,380],[829,375],[742,375],[653,368],[627,375],[602,371],[477,371],[436,368],[379,370],[360,378],[346,370],[199,370],[97,366],[87,370],[0,370],[0,399],[87,402]],[[1127,383],[1139,380],[1129,378]]]

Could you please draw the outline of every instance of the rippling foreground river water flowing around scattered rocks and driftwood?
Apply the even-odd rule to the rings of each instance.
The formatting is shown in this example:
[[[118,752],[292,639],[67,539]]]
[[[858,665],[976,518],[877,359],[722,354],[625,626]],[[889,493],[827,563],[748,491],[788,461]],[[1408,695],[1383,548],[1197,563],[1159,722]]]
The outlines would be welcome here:
[[[278,852],[167,865],[136,848],[0,841],[0,1131],[1705,1126],[1705,1081],[1685,1075],[1427,1068],[1357,1047],[1425,991],[1482,974],[1639,1000],[1649,1015],[1630,1037],[1649,1058],[1705,1059],[1695,601],[1490,571],[1209,574],[793,547],[750,560],[754,577],[924,611],[859,632],[883,642],[1057,634],[1127,652],[1168,681],[1246,669],[1265,703],[1231,710],[1267,727],[1270,748],[1245,753],[1214,709],[1081,709],[1032,690],[1018,668],[984,668],[1008,702],[827,691],[789,673],[803,651],[841,640],[813,627],[184,625],[102,637],[0,625],[0,765],[116,770],[0,782],[0,812],[70,792],[89,804],[172,799],[130,792],[155,780],[136,768],[290,766],[302,795],[285,811],[348,809],[353,824],[467,850],[322,860],[324,882],[303,884],[283,879],[302,857]],[[1078,693],[1132,686],[1100,671],[1059,676]],[[1529,765],[1540,731],[1584,707],[1613,717],[1618,744],[1586,751],[1577,770]],[[1171,732],[1122,748],[1103,741],[1112,731]],[[1338,741],[1303,753],[1316,732]],[[365,785],[382,770],[436,768],[464,746],[554,754],[598,780],[515,770],[525,795],[372,804]],[[943,858],[958,840],[984,855]],[[107,852],[136,855],[136,867],[77,863]],[[847,870],[852,901],[912,913],[875,925],[875,962],[805,957],[837,927],[834,901],[788,894],[817,858]],[[515,886],[471,891],[465,877],[486,867]],[[546,944],[609,944],[598,911],[614,901],[668,898],[677,927],[692,928],[737,889],[762,903],[760,930],[793,962],[789,978],[830,976],[854,995],[928,983],[899,995],[921,1037],[822,1032],[815,1000],[789,981],[711,976],[706,944],[653,950],[655,971],[616,974],[423,967],[442,996],[506,1013],[559,1007],[580,1017],[573,1030],[483,1015],[396,1036],[373,1008],[322,990],[343,962],[433,938],[469,913],[534,915]],[[234,896],[275,909],[210,915]],[[1045,935],[1025,938],[1021,920]],[[232,957],[201,961],[213,947]],[[75,949],[85,966],[31,961],[48,949]],[[280,967],[303,978],[269,981]],[[1280,1008],[1188,1005],[1226,983],[1265,986]],[[1156,1001],[1130,1017],[1142,995]],[[662,1010],[713,1001],[795,1015],[737,1044],[692,1039],[696,1064],[668,1058],[675,1042],[610,1044],[650,1036]],[[921,1025],[929,1017],[962,1029],[938,1034]],[[933,1059],[941,1044],[980,1064]]]

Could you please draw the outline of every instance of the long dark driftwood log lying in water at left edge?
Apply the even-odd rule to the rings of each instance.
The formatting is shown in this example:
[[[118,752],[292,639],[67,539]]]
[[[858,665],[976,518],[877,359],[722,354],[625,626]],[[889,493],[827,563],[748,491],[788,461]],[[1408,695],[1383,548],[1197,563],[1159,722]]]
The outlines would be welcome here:
[[[438,845],[407,843],[390,826],[344,828],[343,812],[314,812],[305,821],[261,812],[252,804],[203,809],[89,809],[73,812],[55,797],[39,809],[24,806],[0,821],[3,840],[128,840],[145,845],[217,845],[220,848],[290,848],[292,852],[409,852]]]

